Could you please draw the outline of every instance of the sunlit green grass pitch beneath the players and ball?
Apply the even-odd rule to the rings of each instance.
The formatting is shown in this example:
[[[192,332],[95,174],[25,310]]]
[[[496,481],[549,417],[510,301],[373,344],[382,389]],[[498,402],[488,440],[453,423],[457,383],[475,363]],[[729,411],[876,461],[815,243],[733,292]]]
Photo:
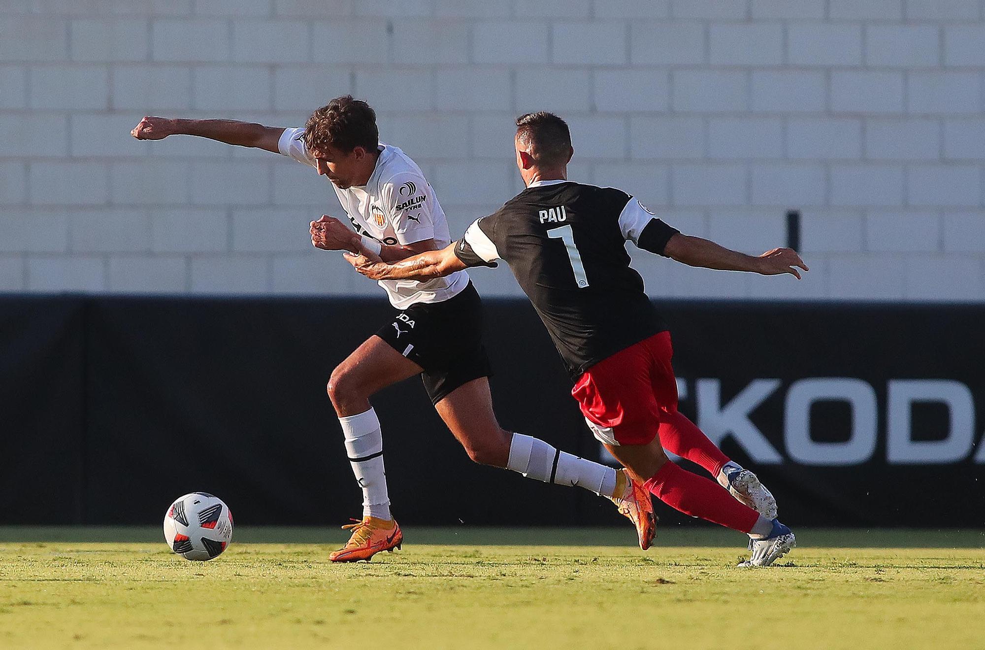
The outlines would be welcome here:
[[[742,537],[708,529],[645,553],[622,529],[411,529],[337,565],[335,531],[240,527],[189,562],[157,529],[0,528],[0,647],[985,645],[982,534],[797,533],[782,565],[739,569]]]

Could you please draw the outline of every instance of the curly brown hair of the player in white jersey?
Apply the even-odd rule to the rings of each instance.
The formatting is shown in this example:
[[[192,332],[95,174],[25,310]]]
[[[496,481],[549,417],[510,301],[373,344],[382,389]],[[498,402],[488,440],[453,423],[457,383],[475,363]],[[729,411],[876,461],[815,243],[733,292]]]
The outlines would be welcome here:
[[[304,145],[309,150],[331,146],[347,153],[357,147],[374,152],[379,146],[376,111],[352,95],[335,97],[304,123]]]

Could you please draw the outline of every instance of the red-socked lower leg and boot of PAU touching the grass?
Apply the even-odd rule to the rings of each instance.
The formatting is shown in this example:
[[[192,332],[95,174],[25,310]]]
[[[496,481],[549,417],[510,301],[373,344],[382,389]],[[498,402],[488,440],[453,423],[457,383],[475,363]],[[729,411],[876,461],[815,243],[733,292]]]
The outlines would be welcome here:
[[[664,503],[748,534],[753,556],[744,564],[768,566],[796,545],[793,533],[777,519],[766,519],[711,481],[671,463],[659,438],[639,445],[606,443],[606,449],[637,476],[649,477],[643,486]]]

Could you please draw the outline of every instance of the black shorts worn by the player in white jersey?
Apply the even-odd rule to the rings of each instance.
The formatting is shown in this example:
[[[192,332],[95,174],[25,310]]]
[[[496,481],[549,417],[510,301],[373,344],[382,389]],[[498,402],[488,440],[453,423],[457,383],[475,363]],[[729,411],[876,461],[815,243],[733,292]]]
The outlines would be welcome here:
[[[376,336],[424,368],[431,404],[479,377],[492,376],[483,346],[482,299],[470,282],[441,302],[419,302],[398,311]]]

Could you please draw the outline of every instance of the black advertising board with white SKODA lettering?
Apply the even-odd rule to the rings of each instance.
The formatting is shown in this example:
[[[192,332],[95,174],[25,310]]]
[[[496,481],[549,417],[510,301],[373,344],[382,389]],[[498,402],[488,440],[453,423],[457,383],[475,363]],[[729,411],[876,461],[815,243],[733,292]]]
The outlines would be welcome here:
[[[599,458],[529,304],[484,304],[502,425]],[[985,523],[985,306],[659,306],[681,411],[755,469],[784,521]],[[0,296],[0,484],[32,494],[0,523],[157,523],[195,489],[237,522],[357,516],[325,383],[391,313],[378,299]],[[373,403],[402,523],[621,524],[584,490],[471,463],[417,380]]]

